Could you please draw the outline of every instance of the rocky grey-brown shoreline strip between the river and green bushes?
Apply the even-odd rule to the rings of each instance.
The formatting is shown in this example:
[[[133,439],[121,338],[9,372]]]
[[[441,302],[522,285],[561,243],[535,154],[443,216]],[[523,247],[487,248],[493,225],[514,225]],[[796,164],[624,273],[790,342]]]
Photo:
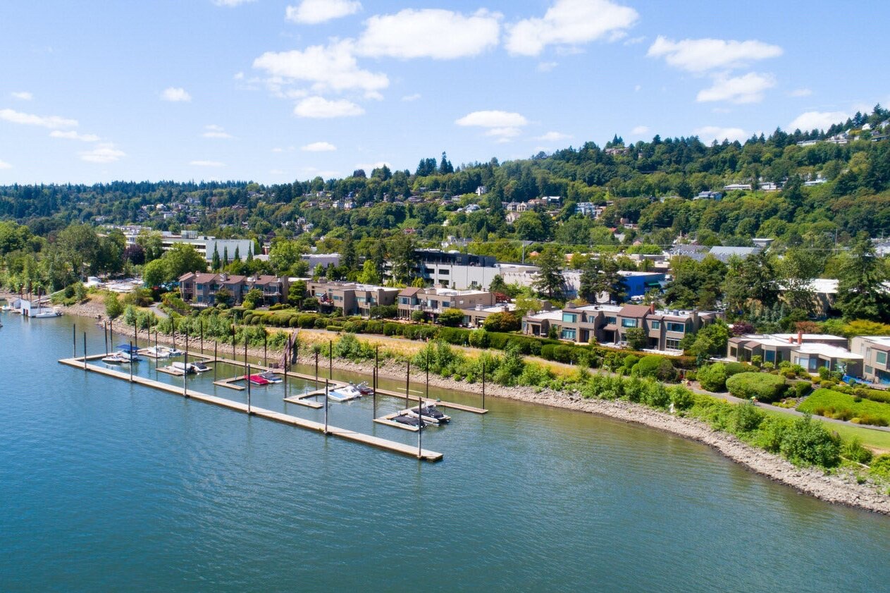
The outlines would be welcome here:
[[[99,320],[105,318],[104,306],[101,303],[92,301],[70,306],[66,309],[66,312],[71,315]],[[132,336],[132,332],[120,333],[121,335]],[[142,339],[149,339],[147,331],[142,330],[139,333]],[[154,339],[153,336],[152,339]],[[169,343],[170,339],[166,336],[159,336],[158,341]],[[212,345],[212,341],[205,340],[205,352]],[[221,346],[223,345],[221,344]],[[239,349],[238,353],[242,352],[243,350]],[[248,356],[261,358],[262,355],[262,349],[248,348]],[[302,363],[309,364],[312,361],[314,361],[314,357],[306,355],[300,357],[300,362]],[[338,370],[351,370],[365,374],[369,374],[373,369],[373,364],[344,360],[336,360],[335,366]],[[388,361],[378,372],[381,377],[399,379],[404,377],[401,365],[399,367],[398,370],[392,368],[392,361]],[[440,377],[431,377],[430,384],[470,393],[473,393],[476,387],[451,378]],[[692,441],[705,443],[716,449],[716,451],[720,451],[726,458],[748,467],[756,474],[765,475],[775,482],[786,484],[799,492],[817,499],[848,507],[863,508],[890,516],[890,496],[878,491],[878,487],[875,484],[868,482],[857,483],[855,476],[846,472],[826,475],[818,469],[796,467],[778,455],[756,449],[747,443],[743,443],[734,435],[716,431],[699,420],[680,418],[667,412],[652,410],[637,403],[586,400],[578,394],[565,394],[549,389],[538,391],[530,387],[489,385],[486,388],[486,394],[566,410],[587,412],[650,426],[674,435],[683,436]]]

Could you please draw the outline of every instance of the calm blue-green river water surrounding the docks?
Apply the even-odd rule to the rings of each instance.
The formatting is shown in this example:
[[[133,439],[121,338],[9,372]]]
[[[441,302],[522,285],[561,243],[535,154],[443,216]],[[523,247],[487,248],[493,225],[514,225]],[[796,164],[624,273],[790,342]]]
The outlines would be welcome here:
[[[420,463],[59,364],[73,353],[74,321],[78,354],[84,331],[90,353],[104,351],[87,320],[2,319],[0,591],[890,583],[890,519],[799,495],[676,436],[487,398],[488,415],[452,411],[449,426],[425,430],[424,448],[445,459]],[[153,364],[136,372],[182,384]],[[239,371],[221,366],[218,378]],[[210,375],[190,389],[246,401]],[[422,376],[412,382],[422,390]],[[322,418],[283,394],[255,387],[252,403]],[[399,403],[381,397],[377,414]],[[373,424],[372,406],[331,403],[329,421],[417,442]]]

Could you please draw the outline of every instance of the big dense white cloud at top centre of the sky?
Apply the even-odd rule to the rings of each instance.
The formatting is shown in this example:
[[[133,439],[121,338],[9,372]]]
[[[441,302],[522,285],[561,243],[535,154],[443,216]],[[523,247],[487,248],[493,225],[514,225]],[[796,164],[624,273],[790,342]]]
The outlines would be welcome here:
[[[376,58],[452,60],[498,45],[500,14],[484,9],[464,16],[440,9],[406,9],[372,16],[357,51]]]

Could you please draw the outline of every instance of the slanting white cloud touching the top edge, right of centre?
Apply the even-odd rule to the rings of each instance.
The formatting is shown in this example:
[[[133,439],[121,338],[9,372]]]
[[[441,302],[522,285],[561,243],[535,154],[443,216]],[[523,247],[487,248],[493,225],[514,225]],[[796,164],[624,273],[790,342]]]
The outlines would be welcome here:
[[[547,45],[579,45],[627,35],[639,13],[610,0],[556,0],[542,19],[520,20],[507,28],[506,50],[538,55]]]

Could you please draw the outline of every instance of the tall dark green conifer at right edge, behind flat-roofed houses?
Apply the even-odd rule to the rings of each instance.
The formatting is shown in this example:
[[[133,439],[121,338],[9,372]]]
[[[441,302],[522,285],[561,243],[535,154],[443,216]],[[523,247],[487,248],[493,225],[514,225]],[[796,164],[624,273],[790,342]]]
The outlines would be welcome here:
[[[845,319],[890,321],[890,294],[883,285],[887,272],[868,233],[857,235],[840,270],[836,306]]]

